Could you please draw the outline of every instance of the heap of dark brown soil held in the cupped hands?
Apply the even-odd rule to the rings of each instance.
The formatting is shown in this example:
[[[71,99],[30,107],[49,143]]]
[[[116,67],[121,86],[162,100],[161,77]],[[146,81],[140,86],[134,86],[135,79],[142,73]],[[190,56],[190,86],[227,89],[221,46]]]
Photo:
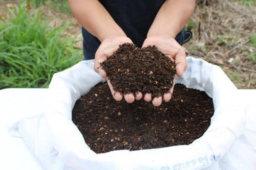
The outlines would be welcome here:
[[[101,64],[113,89],[121,93],[151,93],[153,98],[167,93],[173,86],[175,63],[156,46],[140,48],[131,43],[118,50]]]

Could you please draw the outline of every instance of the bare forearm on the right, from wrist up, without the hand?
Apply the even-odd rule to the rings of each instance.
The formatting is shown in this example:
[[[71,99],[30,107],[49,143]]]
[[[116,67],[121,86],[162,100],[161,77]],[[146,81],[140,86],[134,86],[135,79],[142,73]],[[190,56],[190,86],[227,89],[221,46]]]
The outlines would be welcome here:
[[[195,0],[167,0],[147,33],[150,36],[175,38],[194,12]]]

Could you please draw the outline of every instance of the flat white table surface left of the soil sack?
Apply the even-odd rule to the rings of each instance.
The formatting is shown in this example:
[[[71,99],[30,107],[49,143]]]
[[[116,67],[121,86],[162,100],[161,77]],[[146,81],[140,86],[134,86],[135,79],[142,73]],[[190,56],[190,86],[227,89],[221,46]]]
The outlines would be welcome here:
[[[40,114],[48,89],[9,88],[0,90],[0,160],[1,169],[42,170],[24,140],[8,132],[7,123]]]

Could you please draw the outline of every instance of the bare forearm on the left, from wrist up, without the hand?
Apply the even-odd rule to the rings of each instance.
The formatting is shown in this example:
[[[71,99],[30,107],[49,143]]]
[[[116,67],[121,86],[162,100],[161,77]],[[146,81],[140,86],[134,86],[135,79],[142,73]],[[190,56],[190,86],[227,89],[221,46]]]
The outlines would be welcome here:
[[[113,36],[126,36],[97,0],[69,0],[78,22],[101,42]]]

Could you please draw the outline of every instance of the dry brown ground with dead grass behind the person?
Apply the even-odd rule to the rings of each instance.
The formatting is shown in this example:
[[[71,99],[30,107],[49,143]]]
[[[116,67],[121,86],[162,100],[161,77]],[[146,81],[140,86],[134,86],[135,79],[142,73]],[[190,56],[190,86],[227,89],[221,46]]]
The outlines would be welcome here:
[[[0,15],[12,8],[13,1],[0,1]],[[256,89],[256,7],[228,0],[198,0],[186,29],[193,39],[183,45],[187,56],[202,58],[220,66],[239,89]],[[66,36],[75,37],[75,47],[81,48],[81,26],[70,15],[43,7],[50,24],[59,27],[69,23]],[[54,19],[53,19],[54,18]]]

